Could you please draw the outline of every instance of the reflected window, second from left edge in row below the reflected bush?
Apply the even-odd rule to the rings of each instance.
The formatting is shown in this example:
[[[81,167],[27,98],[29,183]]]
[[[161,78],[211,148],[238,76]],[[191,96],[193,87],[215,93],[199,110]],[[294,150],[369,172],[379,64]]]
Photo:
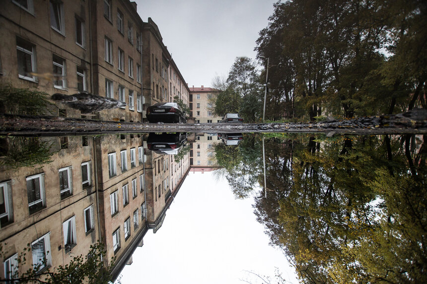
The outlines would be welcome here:
[[[27,177],[27,196],[30,214],[46,206],[44,173]]]

